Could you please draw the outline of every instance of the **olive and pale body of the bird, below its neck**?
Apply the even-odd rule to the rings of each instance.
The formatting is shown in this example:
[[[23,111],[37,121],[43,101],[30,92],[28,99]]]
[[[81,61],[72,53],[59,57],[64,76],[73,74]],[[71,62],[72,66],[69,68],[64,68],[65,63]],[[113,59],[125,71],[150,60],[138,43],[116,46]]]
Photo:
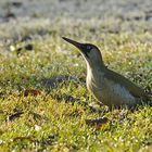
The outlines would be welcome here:
[[[129,105],[145,99],[144,91],[124,76],[104,67],[87,74],[87,87],[93,96],[109,106]]]

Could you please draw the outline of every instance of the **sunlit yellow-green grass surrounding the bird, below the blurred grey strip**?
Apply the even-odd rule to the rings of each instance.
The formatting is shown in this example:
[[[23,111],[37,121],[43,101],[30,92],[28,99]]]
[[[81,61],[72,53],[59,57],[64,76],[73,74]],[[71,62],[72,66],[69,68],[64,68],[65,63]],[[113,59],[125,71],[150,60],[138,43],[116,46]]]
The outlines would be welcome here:
[[[88,104],[96,100],[85,86],[85,61],[61,36],[99,46],[110,68],[152,91],[151,34],[140,23],[135,33],[115,33],[113,20],[25,23],[15,27],[18,34],[8,23],[0,25],[8,27],[0,46],[0,151],[150,152],[152,107],[92,111]],[[109,121],[85,122],[99,117]]]

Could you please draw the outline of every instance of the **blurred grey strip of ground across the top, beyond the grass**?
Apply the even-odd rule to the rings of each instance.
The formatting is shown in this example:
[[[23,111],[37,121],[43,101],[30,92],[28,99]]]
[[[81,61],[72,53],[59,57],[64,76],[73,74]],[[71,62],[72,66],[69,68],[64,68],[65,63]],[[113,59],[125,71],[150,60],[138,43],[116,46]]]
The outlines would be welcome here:
[[[0,21],[8,18],[152,20],[151,0],[1,0]]]

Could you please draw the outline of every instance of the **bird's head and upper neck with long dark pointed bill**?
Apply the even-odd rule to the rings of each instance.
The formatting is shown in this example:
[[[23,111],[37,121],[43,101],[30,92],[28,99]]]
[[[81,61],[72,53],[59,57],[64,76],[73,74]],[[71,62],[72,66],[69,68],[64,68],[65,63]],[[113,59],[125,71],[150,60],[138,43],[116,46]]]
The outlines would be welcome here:
[[[67,42],[74,45],[76,48],[79,49],[80,53],[85,58],[86,62],[92,67],[92,66],[102,66],[102,55],[100,50],[91,43],[80,43],[75,40],[62,37]]]

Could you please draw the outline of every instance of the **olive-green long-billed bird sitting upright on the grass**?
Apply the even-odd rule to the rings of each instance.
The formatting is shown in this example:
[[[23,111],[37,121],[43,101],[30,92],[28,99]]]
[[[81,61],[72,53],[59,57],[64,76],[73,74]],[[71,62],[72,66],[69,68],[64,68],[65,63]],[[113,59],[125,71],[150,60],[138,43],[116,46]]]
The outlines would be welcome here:
[[[62,38],[80,51],[87,64],[87,89],[101,105],[107,105],[109,109],[131,109],[149,101],[144,89],[105,66],[98,47],[91,43],[81,43],[66,37]]]

